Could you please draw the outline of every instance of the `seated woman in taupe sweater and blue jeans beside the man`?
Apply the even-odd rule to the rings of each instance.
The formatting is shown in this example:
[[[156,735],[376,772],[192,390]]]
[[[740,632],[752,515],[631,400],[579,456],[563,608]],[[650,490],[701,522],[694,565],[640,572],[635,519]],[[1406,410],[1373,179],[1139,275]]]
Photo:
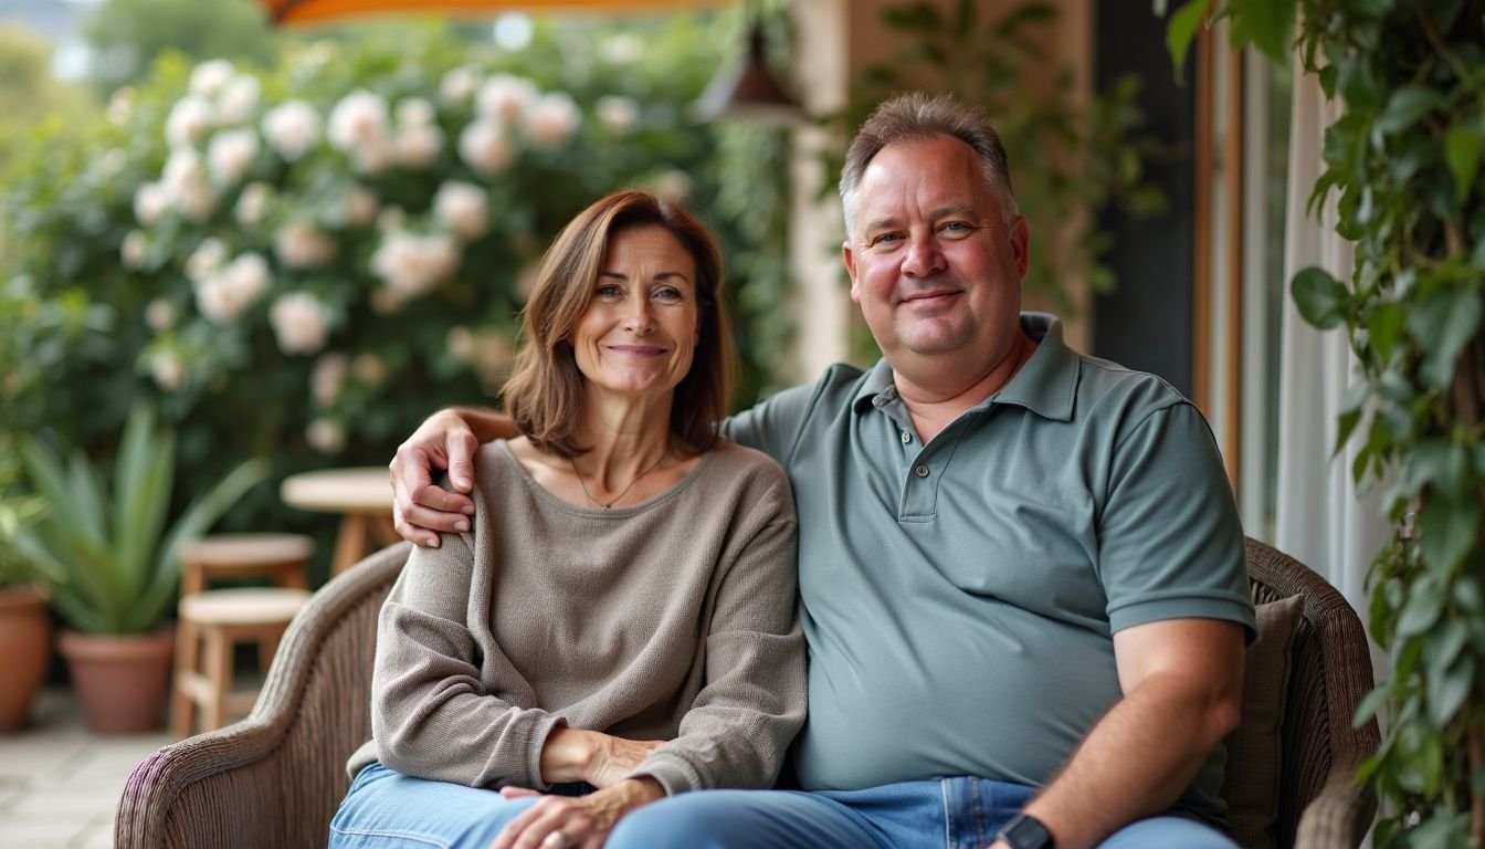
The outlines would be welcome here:
[[[774,782],[805,715],[794,509],[717,437],[720,288],[711,236],[650,195],[557,236],[505,385],[523,436],[481,448],[474,526],[382,608],[331,846],[597,849],[647,801]]]

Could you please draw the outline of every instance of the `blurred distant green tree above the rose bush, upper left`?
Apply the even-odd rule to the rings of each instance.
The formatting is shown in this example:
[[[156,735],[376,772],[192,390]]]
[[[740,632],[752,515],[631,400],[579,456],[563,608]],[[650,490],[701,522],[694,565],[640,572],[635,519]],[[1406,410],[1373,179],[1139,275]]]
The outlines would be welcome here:
[[[91,74],[108,94],[143,79],[160,55],[269,62],[279,36],[255,0],[102,0],[83,24]]]

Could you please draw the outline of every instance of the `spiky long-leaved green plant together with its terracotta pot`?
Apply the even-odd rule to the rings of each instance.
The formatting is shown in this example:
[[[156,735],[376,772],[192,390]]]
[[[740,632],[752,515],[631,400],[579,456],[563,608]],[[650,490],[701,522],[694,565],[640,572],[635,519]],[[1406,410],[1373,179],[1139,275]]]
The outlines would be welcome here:
[[[88,726],[153,729],[165,714],[174,635],[163,623],[180,549],[263,480],[266,464],[236,467],[166,528],[175,439],[147,406],[129,413],[108,485],[82,453],[64,462],[55,448],[25,439],[21,455],[52,510],[19,535],[19,550],[50,575],[52,604],[71,626],[58,648]]]

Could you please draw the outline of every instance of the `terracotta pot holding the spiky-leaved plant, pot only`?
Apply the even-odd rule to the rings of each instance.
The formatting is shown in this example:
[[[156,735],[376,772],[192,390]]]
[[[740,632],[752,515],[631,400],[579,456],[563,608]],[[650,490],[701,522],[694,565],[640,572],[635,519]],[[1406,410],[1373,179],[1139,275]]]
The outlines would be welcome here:
[[[64,629],[56,647],[67,659],[89,729],[122,735],[165,724],[172,627],[126,636]]]

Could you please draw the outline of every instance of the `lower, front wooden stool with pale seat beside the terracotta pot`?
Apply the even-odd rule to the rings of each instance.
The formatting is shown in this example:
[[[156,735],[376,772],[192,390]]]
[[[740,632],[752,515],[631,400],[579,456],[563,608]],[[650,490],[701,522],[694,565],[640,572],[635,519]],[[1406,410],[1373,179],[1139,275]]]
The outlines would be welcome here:
[[[255,641],[258,662],[267,669],[284,629],[306,601],[309,590],[285,587],[205,590],[183,598],[175,627],[171,733],[193,735],[198,708],[206,732],[227,724],[229,715],[251,711],[257,690],[232,691],[233,648]]]

